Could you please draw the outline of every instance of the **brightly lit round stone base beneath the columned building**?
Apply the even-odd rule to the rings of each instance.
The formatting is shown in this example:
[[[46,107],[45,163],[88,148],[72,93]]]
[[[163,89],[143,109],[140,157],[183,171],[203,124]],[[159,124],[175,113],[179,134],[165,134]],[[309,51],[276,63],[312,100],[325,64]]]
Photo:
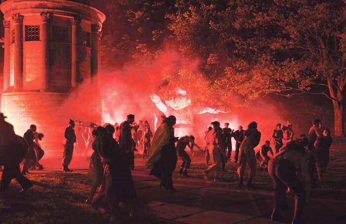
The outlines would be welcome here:
[[[42,144],[45,157],[61,157],[64,129],[68,120],[61,104],[66,93],[21,92],[1,95],[1,112],[14,126],[16,134],[23,136],[31,124],[44,134]]]

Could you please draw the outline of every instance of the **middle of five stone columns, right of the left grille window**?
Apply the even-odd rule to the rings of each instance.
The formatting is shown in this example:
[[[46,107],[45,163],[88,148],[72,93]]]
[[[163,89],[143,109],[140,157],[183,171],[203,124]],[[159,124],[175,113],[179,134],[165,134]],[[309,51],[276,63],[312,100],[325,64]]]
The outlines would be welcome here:
[[[50,13],[41,12],[41,43],[42,43],[42,83],[40,91],[49,89],[49,20]]]

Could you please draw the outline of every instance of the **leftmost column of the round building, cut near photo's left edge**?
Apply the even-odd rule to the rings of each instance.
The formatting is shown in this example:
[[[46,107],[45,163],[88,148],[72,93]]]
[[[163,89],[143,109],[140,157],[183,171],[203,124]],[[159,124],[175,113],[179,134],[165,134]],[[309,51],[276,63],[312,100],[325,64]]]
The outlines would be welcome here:
[[[3,38],[3,92],[5,92],[9,88],[9,69],[10,69],[10,50],[9,50],[9,42],[10,42],[10,21],[3,20],[3,28],[4,28],[4,38]]]

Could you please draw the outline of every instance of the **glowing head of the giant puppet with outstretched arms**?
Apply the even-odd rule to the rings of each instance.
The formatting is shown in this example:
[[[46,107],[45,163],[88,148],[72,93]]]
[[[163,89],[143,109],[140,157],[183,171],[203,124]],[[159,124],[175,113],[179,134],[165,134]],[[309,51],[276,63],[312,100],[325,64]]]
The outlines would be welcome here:
[[[173,110],[182,110],[191,105],[191,99],[187,97],[186,91],[180,88],[175,88],[168,99],[165,100],[167,106]]]

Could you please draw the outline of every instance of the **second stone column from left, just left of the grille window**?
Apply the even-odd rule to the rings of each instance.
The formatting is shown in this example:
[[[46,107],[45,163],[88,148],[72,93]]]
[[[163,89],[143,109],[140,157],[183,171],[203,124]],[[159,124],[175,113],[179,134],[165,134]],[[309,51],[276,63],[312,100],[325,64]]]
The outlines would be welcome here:
[[[14,21],[14,91],[23,89],[23,19],[19,13],[13,14]]]

